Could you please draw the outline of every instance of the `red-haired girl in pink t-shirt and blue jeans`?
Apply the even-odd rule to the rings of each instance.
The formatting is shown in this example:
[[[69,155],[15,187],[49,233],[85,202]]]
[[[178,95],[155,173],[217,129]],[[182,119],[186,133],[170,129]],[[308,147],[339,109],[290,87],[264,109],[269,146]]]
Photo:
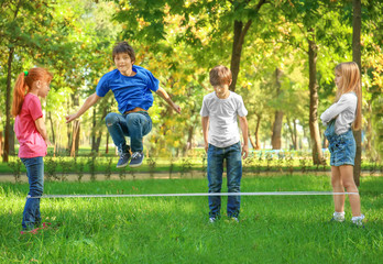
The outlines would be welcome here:
[[[50,91],[53,75],[44,68],[32,68],[19,75],[13,90],[12,116],[20,143],[19,157],[26,167],[30,191],[23,212],[22,228],[35,233],[41,224],[40,197],[44,189],[44,161],[50,140],[46,134],[39,97]],[[31,198],[32,197],[32,198]]]

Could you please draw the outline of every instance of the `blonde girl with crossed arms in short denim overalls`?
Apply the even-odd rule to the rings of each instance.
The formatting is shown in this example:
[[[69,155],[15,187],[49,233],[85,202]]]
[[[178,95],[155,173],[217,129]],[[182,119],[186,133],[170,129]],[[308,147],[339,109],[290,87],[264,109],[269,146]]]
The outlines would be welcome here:
[[[361,129],[362,122],[362,91],[360,72],[355,63],[342,63],[335,68],[335,84],[338,88],[336,103],[329,107],[320,119],[327,125],[325,135],[329,142],[331,153],[331,185],[333,193],[358,193],[353,180],[353,165],[355,158],[355,141],[351,131]],[[364,216],[360,210],[360,197],[349,196],[352,219],[362,226]],[[344,195],[335,195],[335,212],[331,220],[344,221]]]

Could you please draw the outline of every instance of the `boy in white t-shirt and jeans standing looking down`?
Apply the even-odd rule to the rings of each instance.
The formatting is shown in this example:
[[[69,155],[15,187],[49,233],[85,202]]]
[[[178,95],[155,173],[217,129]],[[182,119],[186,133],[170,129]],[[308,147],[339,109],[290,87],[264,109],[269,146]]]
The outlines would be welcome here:
[[[242,178],[242,156],[249,154],[248,110],[242,97],[229,90],[231,72],[219,65],[210,70],[210,84],[215,91],[204,97],[200,110],[205,151],[208,154],[207,175],[209,193],[220,193],[222,186],[223,161],[227,164],[228,193],[240,193]],[[237,117],[243,135],[243,146],[238,129]],[[238,221],[240,196],[228,197],[228,217]],[[209,221],[220,218],[221,197],[209,196]]]

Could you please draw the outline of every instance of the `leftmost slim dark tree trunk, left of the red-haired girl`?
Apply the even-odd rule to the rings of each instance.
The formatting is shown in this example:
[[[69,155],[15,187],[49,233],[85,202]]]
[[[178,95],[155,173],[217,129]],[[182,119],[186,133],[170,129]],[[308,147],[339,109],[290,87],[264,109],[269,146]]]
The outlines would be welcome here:
[[[14,47],[9,50],[8,54],[8,74],[7,74],[7,91],[6,91],[6,135],[4,135],[4,153],[2,162],[8,163],[10,154],[10,128],[11,128],[11,79],[12,79],[12,61]]]

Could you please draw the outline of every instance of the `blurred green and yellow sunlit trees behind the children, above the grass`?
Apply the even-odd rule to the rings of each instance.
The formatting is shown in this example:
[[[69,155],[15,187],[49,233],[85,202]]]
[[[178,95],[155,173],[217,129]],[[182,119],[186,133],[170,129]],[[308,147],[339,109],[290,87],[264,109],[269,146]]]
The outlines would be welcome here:
[[[354,61],[354,8],[361,4],[360,57],[365,156],[382,155],[383,3],[360,0],[0,0],[0,142],[3,162],[14,154],[12,88],[33,66],[54,74],[43,101],[55,151],[75,155],[79,145],[98,152],[111,139],[103,118],[117,111],[108,94],[77,122],[65,123],[99,78],[113,69],[112,46],[128,41],[136,64],[150,69],[180,105],[176,114],[155,97],[154,128],[146,148],[185,155],[203,141],[199,111],[212,91],[211,67],[231,68],[232,91],[249,110],[255,150],[311,151],[322,163],[325,128],[319,114],[335,99],[333,68]],[[358,15],[357,15],[358,18]]]

